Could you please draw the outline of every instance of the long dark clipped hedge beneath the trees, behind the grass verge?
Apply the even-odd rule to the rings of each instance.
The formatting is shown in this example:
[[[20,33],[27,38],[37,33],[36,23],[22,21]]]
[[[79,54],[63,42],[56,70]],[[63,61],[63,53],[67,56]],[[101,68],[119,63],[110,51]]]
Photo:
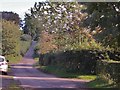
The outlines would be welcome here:
[[[99,50],[50,52],[40,55],[39,61],[41,65],[62,67],[66,72],[96,74],[97,61],[106,59],[106,53],[112,55],[110,52]]]

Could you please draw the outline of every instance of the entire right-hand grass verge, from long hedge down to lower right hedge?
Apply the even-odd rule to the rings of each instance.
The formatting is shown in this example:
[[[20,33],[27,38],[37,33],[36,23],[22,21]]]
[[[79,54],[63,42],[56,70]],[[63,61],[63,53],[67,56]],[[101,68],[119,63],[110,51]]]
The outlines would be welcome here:
[[[99,78],[97,75],[83,75],[80,73],[68,73],[68,72],[65,72],[64,69],[61,69],[57,66],[40,66],[38,62],[34,66],[40,71],[53,74],[61,78],[76,78],[76,79],[82,79],[82,80],[89,80],[89,82],[86,83],[86,86],[88,88],[115,88],[116,87],[114,84],[109,84],[108,81]]]

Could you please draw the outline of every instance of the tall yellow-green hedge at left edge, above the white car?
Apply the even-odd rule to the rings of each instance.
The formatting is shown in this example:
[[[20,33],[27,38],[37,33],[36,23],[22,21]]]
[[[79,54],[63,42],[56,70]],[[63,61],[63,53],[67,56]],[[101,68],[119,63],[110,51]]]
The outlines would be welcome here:
[[[2,20],[2,54],[18,56],[20,53],[20,30],[17,24]]]

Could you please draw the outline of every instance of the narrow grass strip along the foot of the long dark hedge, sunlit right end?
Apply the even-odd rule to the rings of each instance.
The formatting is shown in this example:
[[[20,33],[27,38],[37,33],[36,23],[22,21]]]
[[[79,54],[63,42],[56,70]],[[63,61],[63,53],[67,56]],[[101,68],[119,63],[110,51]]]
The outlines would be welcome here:
[[[53,74],[61,78],[76,78],[82,80],[95,80],[96,75],[82,75],[80,73],[68,73],[64,69],[57,66],[39,66],[38,63],[34,65],[38,70],[45,73]]]

